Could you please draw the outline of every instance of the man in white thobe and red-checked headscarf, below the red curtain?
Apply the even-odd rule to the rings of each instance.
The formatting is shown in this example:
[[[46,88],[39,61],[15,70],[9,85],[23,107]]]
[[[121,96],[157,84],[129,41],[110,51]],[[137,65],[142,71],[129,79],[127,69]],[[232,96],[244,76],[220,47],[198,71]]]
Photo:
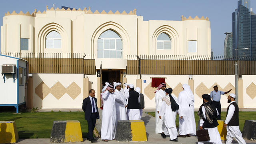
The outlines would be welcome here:
[[[162,103],[162,98],[166,96],[166,92],[164,91],[166,88],[165,83],[159,84],[157,90],[155,91],[155,102],[156,102],[156,134],[160,134],[164,138],[166,137],[164,134],[165,124],[164,124],[164,116],[159,118],[160,105]]]

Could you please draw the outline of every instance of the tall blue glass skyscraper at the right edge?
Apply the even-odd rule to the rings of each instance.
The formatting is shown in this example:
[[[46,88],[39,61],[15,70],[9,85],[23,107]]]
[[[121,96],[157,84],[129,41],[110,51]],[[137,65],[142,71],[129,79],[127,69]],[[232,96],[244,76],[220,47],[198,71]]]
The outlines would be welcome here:
[[[237,58],[256,57],[256,15],[250,8],[250,0],[238,0],[238,8],[232,13],[232,29],[233,56],[237,52]]]

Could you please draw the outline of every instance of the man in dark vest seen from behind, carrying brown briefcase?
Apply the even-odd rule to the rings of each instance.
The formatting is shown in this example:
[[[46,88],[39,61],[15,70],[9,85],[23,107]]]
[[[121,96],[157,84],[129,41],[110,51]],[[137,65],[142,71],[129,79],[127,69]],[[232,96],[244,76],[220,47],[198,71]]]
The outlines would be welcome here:
[[[198,142],[198,144],[204,144],[208,142],[212,144],[222,144],[220,139],[220,133],[217,128],[217,126],[219,125],[217,121],[217,117],[219,115],[218,110],[214,106],[210,95],[203,94],[202,98],[204,103],[200,106],[199,111],[197,113],[200,118],[199,128],[200,130],[208,130],[210,140],[201,141]]]

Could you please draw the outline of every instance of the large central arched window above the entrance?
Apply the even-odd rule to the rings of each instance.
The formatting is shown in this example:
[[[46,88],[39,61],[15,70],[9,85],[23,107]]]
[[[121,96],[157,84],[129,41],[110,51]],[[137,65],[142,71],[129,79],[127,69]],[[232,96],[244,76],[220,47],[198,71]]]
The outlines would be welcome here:
[[[122,39],[116,32],[107,30],[98,38],[98,58],[122,58]]]

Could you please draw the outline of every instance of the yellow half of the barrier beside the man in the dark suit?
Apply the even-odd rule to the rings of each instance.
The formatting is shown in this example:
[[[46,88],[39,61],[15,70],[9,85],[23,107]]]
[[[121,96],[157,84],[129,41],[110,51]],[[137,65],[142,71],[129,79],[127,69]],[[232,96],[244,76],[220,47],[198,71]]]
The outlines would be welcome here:
[[[64,142],[82,142],[82,130],[78,120],[67,120]]]

